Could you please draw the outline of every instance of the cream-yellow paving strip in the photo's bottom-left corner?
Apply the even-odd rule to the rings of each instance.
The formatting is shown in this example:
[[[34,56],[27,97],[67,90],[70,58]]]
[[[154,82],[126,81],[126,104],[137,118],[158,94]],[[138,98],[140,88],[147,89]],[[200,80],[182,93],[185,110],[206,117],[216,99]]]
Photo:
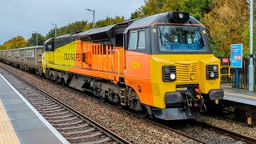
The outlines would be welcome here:
[[[0,100],[0,144],[19,144],[18,137]]]

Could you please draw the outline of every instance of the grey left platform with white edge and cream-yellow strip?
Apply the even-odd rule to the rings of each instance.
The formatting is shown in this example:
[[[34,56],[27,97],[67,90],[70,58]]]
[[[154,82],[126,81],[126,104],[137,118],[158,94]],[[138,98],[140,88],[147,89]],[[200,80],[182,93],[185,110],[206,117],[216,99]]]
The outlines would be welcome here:
[[[0,74],[0,144],[69,143]]]

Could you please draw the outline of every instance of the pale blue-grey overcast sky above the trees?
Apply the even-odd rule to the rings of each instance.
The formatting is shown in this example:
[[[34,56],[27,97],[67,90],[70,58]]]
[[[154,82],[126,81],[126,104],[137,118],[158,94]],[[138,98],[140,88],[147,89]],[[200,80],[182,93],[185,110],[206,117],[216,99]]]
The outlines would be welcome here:
[[[0,0],[0,45],[18,35],[28,39],[34,31],[46,36],[56,23],[58,27],[70,22],[93,21],[130,14],[144,0]]]

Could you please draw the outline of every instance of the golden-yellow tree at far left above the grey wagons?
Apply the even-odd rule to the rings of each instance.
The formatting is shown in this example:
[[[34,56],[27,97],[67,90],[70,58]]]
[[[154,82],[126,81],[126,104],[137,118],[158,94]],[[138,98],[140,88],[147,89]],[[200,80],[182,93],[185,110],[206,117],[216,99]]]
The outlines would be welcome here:
[[[22,36],[17,36],[4,42],[3,45],[0,46],[0,48],[1,50],[10,50],[10,49],[22,48],[25,46],[26,46],[26,39],[23,38]]]

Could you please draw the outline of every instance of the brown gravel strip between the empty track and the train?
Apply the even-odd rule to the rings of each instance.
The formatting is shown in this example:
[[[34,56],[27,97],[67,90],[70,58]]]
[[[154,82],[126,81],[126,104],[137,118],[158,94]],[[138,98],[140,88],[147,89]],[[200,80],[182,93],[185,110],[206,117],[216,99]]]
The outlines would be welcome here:
[[[0,64],[1,66],[6,66]],[[8,66],[8,69],[15,71],[15,74],[21,74],[23,78],[31,82],[34,86],[45,90],[55,98],[80,111],[82,114],[100,123],[107,129],[126,138],[133,143],[197,143],[194,140],[179,135],[171,130],[166,130],[161,126],[155,126],[142,118],[127,114],[122,110],[98,102],[94,98],[78,94],[65,86],[57,85],[55,82],[38,78],[34,74],[26,73],[22,70]],[[1,70],[3,71],[3,70]],[[8,75],[6,72],[1,72]]]

